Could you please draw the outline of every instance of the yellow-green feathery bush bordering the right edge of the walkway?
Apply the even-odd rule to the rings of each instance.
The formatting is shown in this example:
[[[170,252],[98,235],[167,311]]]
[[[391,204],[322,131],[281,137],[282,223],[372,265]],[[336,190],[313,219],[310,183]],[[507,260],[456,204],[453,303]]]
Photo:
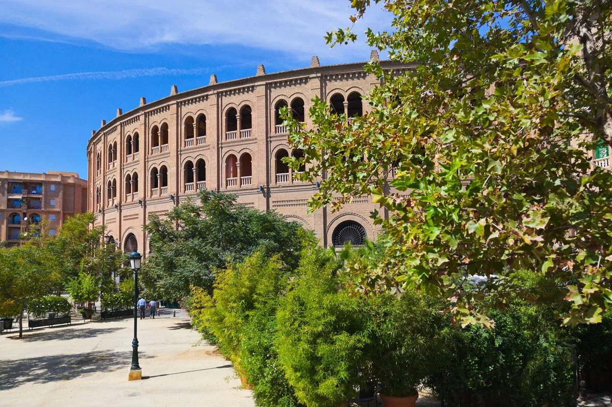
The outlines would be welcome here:
[[[214,294],[192,287],[188,299],[195,327],[204,337],[215,338],[222,353],[253,386],[261,406],[296,406],[273,347],[275,312],[286,292],[291,269],[279,260],[257,252],[243,263],[218,271]]]

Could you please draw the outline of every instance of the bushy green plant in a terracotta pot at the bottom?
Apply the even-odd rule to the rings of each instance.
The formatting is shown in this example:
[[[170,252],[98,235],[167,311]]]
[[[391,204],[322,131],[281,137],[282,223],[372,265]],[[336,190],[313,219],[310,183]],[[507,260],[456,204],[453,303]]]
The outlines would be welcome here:
[[[412,407],[444,360],[442,317],[414,291],[368,299],[370,375],[385,407]]]

